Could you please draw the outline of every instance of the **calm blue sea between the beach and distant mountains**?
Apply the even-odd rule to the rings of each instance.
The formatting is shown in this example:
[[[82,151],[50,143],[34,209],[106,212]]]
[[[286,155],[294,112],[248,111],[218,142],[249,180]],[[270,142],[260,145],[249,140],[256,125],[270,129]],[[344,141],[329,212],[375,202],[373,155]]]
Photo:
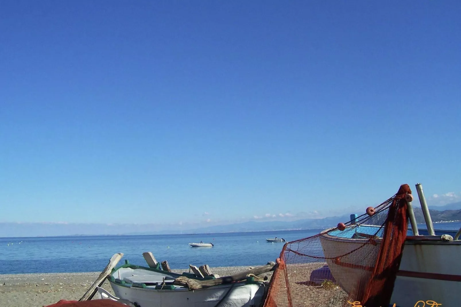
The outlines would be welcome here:
[[[419,228],[426,228],[420,225]],[[436,223],[435,229],[458,230],[461,222]],[[172,269],[201,266],[258,266],[275,261],[284,243],[318,234],[321,230],[282,230],[192,235],[150,236],[53,236],[0,238],[0,274],[100,272],[113,254],[122,260],[147,266],[142,257],[152,252],[157,261],[167,260]],[[192,242],[213,243],[212,248],[191,248]]]

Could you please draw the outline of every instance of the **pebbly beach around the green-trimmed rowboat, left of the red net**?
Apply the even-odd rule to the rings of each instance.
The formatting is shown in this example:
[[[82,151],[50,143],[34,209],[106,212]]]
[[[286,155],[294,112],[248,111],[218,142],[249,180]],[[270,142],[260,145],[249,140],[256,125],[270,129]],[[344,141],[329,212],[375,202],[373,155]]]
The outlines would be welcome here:
[[[248,270],[248,266],[212,268],[213,273],[220,276],[231,275],[245,270]],[[189,269],[172,271],[182,273],[189,272]],[[99,274],[100,272],[0,275],[0,306],[43,307],[59,300],[79,300]],[[272,272],[264,275],[271,277]],[[108,281],[102,285],[102,288],[113,294],[112,287]]]

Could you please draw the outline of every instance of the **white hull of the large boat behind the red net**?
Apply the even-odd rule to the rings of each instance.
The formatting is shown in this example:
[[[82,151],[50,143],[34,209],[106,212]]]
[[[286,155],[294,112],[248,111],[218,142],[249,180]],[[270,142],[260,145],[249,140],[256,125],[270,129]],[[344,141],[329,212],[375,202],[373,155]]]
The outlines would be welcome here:
[[[326,232],[328,230],[325,230]],[[320,242],[325,257],[346,254],[360,247],[366,239],[339,238],[324,234]],[[380,240],[377,240],[380,244]],[[377,248],[365,245],[373,257],[357,257],[352,253],[342,257],[342,263],[360,266],[374,266]],[[360,254],[367,254],[361,251]],[[455,242],[421,242],[407,240],[402,254],[402,261],[397,273],[390,306],[415,306],[418,301],[435,301],[444,307],[459,307],[461,301],[461,241]],[[366,283],[371,272],[337,265],[333,260],[326,260],[331,274],[339,285],[348,293],[353,293],[359,283]],[[426,303],[427,305],[427,303]],[[420,305],[423,306],[423,305]]]

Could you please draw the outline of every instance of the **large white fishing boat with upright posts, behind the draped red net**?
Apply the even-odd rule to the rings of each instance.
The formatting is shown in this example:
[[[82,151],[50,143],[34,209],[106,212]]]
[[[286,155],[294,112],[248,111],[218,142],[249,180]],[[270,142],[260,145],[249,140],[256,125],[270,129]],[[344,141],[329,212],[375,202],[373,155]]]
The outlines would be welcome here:
[[[458,263],[461,260],[461,229],[455,234],[452,230],[434,231],[420,183],[416,187],[425,214],[426,231],[431,235],[420,235],[414,215],[408,214],[414,235],[406,237],[390,306],[414,306],[418,301],[428,300],[446,307],[459,306],[461,266]],[[408,210],[412,210],[411,201]],[[383,232],[384,228],[381,226],[359,224],[350,224],[343,230],[331,228],[321,232],[319,240],[323,253],[326,258],[332,258],[326,259],[330,272],[341,288],[349,294],[354,293],[355,287],[369,281],[371,271],[364,268],[372,268],[375,265],[373,253],[376,253],[377,249],[366,242],[372,239],[376,244],[381,244]],[[357,257],[353,253],[358,248],[362,249],[363,257]],[[338,254],[344,256],[337,259],[335,256]]]

